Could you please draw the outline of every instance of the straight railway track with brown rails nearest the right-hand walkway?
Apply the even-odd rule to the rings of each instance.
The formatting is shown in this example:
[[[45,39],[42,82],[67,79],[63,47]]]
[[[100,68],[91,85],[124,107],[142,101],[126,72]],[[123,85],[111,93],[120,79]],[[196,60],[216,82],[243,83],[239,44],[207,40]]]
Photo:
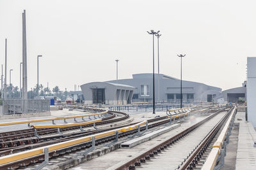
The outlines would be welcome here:
[[[230,115],[232,110],[234,110],[234,108],[230,109],[227,113],[225,113],[225,116],[223,118],[221,118],[220,122],[218,122],[218,124],[214,126],[214,128],[211,130],[211,132],[209,132],[209,134],[207,134],[207,136],[205,136],[203,141],[198,143],[198,145],[196,145],[196,147],[194,146],[195,148],[192,149],[191,153],[189,153],[189,155],[187,155],[187,157],[184,157],[184,161],[180,161],[180,165],[177,167],[177,169],[193,169],[193,168],[195,168],[195,165],[198,164],[198,161],[200,160],[200,156],[202,157],[202,153],[205,152],[205,150],[207,149],[207,146],[211,145],[210,140],[214,141],[214,136],[216,136],[217,132],[221,128],[221,125],[223,125],[225,123],[225,120],[227,120],[227,118]],[[156,146],[153,146],[152,148],[150,148],[149,150],[147,150],[143,153],[140,153],[140,155],[137,155],[133,159],[130,159],[129,161],[124,162],[122,164],[118,164],[117,166],[114,166],[115,167],[114,169],[116,169],[116,170],[136,169],[136,167],[140,167],[140,166],[148,169],[148,166],[143,166],[145,162],[150,160],[150,163],[154,164],[154,159],[152,159],[152,158],[156,157],[156,155],[159,155],[160,153],[163,155],[166,154],[166,153],[164,153],[164,150],[166,150],[166,149],[168,150],[168,148],[170,148],[174,145],[176,145],[179,148],[178,143],[180,143],[180,139],[184,140],[184,138],[186,138],[191,132],[195,131],[196,128],[200,127],[200,125],[204,124],[208,120],[211,120],[211,118],[213,118],[216,115],[218,115],[219,113],[221,113],[221,111],[223,111],[223,110],[213,113],[211,116],[205,118],[204,120],[198,122],[195,125],[192,125],[188,129],[185,129],[184,131],[179,132],[179,134],[176,134],[172,138],[165,139],[163,142],[159,143]],[[175,154],[175,153],[172,153],[172,155],[173,154]],[[172,157],[172,156],[170,155],[170,157]],[[161,159],[161,155],[159,156],[159,159]],[[161,162],[159,162],[157,160],[155,163],[161,164]],[[169,162],[168,164],[172,164],[172,163]],[[147,164],[145,164],[145,165],[147,165]],[[168,168],[170,169],[170,166],[168,166]],[[151,168],[151,169],[157,169],[157,166],[154,168]]]

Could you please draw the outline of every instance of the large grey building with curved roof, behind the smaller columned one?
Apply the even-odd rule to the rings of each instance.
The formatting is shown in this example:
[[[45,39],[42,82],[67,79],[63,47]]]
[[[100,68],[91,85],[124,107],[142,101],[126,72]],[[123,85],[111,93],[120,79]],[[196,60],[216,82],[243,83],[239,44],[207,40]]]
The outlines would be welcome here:
[[[117,83],[117,80],[106,82]],[[153,99],[152,73],[132,74],[132,78],[118,80],[118,83],[135,87],[132,102],[150,102]],[[221,89],[218,87],[182,80],[184,102],[211,102],[212,97],[220,95]],[[164,74],[155,74],[155,99],[156,101],[179,102],[180,80]]]

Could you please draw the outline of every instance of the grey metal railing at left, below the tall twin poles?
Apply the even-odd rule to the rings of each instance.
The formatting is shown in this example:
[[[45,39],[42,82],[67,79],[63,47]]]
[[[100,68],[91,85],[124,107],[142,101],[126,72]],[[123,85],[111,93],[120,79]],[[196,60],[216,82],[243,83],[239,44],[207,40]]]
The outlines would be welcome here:
[[[3,114],[36,113],[50,111],[47,99],[4,99]]]

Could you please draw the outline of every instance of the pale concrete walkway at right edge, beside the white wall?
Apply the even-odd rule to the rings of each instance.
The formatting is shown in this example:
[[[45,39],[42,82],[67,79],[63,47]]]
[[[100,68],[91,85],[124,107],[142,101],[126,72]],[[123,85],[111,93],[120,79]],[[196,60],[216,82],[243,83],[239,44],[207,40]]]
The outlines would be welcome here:
[[[239,118],[239,120],[237,120]],[[237,112],[236,121],[239,122],[237,143],[236,169],[256,169],[256,132],[251,122],[245,121],[245,113]]]

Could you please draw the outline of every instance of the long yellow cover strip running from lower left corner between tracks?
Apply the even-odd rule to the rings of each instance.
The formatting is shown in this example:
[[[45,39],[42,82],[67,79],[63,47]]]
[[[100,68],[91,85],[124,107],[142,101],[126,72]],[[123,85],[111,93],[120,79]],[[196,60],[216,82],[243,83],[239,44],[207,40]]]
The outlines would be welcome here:
[[[116,129],[116,130],[113,130],[113,131],[107,131],[107,132],[102,132],[102,133],[99,133],[99,134],[93,134],[91,136],[86,136],[86,137],[78,138],[78,139],[72,139],[70,141],[56,143],[56,144],[49,145],[49,146],[42,146],[40,148],[35,148],[33,150],[28,150],[28,151],[24,151],[24,152],[13,153],[11,155],[6,155],[6,156],[3,156],[3,157],[0,157],[0,165],[7,164],[7,163],[10,163],[10,162],[13,162],[13,161],[16,161],[16,160],[25,159],[25,158],[28,158],[28,157],[33,157],[33,156],[39,155],[39,154],[43,153],[44,148],[48,148],[49,152],[51,152],[53,150],[58,150],[58,149],[65,148],[65,147],[68,147],[68,146],[77,145],[79,143],[84,143],[84,142],[87,142],[87,141],[91,141],[93,137],[95,137],[95,139],[99,139],[99,138],[103,138],[103,137],[106,137],[106,136],[113,135],[113,134],[115,134],[116,131],[118,131],[118,132],[131,131],[133,129],[136,129],[138,127],[138,125],[141,126],[141,125],[145,125],[145,124],[147,124],[147,121],[143,121],[143,122],[140,122],[138,124],[131,125],[129,127]]]

